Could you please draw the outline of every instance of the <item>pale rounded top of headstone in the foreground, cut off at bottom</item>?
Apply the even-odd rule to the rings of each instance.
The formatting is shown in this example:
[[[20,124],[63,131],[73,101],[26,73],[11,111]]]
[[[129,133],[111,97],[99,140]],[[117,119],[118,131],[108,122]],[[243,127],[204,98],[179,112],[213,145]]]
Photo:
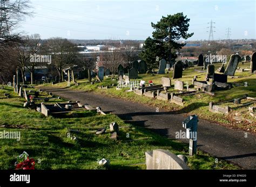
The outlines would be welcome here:
[[[167,150],[157,149],[145,155],[147,169],[190,169],[178,156]]]

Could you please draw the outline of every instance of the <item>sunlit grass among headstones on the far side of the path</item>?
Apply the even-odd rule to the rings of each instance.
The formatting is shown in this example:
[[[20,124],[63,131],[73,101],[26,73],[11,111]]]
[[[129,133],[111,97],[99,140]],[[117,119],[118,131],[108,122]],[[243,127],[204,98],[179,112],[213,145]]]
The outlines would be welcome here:
[[[214,64],[215,71],[220,67],[221,64]],[[250,63],[245,63],[244,65],[239,64],[238,67],[241,68],[250,68]],[[200,73],[196,70],[202,71],[202,67],[192,67],[188,68],[183,72],[183,78],[179,79],[184,81],[184,85],[192,84],[192,79],[195,75],[197,75],[197,80],[204,80],[206,76],[206,70],[204,73]],[[149,80],[152,80],[154,84],[161,84],[161,77],[169,77],[172,79],[172,72],[166,74],[139,74],[139,79],[137,80],[145,80],[146,83]],[[238,77],[238,78],[236,78]],[[225,126],[230,126],[233,128],[239,128],[243,130],[249,130],[251,132],[256,132],[256,120],[250,116],[250,114],[244,113],[244,117],[251,121],[236,121],[233,119],[234,113],[242,110],[248,109],[248,107],[244,107],[241,109],[235,109],[232,113],[228,115],[211,113],[208,111],[209,102],[221,102],[226,100],[231,100],[235,98],[240,98],[245,93],[248,96],[256,98],[256,74],[251,74],[250,72],[235,72],[235,78],[228,77],[228,82],[236,82],[239,84],[244,84],[247,82],[248,86],[237,86],[232,89],[228,89],[226,91],[215,91],[215,96],[211,96],[208,94],[196,94],[192,96],[183,96],[185,101],[185,105],[183,107],[176,105],[175,103],[170,103],[169,101],[161,101],[157,99],[147,98],[146,96],[136,95],[133,92],[125,92],[123,88],[121,91],[117,91],[116,87],[112,87],[110,89],[98,89],[98,86],[111,86],[113,83],[117,84],[117,80],[111,80],[111,78],[105,78],[103,82],[99,82],[97,84],[91,85],[88,80],[77,80],[79,86],[75,86],[71,84],[70,89],[82,90],[82,91],[93,91],[98,94],[105,94],[107,96],[111,96],[114,98],[122,98],[125,100],[130,100],[133,102],[145,103],[147,105],[151,105],[157,108],[162,108],[167,111],[172,111],[176,113],[187,113],[187,114],[196,114],[201,119],[206,119],[212,122],[217,122],[223,124]],[[174,80],[172,79],[172,85],[174,85]],[[42,86],[42,85],[41,85]],[[44,86],[51,86],[50,84],[45,84]],[[57,87],[66,87],[66,82],[62,82],[56,84],[54,86]],[[252,105],[253,106],[253,105]],[[254,105],[255,106],[255,105]]]

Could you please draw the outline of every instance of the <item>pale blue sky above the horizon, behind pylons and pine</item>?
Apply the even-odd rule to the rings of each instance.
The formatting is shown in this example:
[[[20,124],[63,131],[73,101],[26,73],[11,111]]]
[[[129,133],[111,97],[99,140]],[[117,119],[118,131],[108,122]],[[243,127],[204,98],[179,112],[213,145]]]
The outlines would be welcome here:
[[[190,18],[188,40],[208,39],[210,22],[214,39],[256,39],[255,0],[31,0],[32,17],[20,31],[38,33],[42,39],[132,39],[152,36],[151,22],[183,12]],[[208,32],[207,32],[208,31]]]

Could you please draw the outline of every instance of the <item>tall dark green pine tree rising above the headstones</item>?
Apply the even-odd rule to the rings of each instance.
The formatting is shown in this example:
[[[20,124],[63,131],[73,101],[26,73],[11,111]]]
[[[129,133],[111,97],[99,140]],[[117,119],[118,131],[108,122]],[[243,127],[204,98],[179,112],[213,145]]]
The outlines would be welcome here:
[[[177,58],[176,50],[181,49],[184,44],[177,43],[180,38],[187,39],[194,33],[187,33],[190,19],[183,13],[167,15],[162,17],[157,24],[151,23],[154,31],[152,38],[145,40],[144,50],[139,57],[149,64],[149,67],[158,67],[156,59],[165,59],[171,64]]]

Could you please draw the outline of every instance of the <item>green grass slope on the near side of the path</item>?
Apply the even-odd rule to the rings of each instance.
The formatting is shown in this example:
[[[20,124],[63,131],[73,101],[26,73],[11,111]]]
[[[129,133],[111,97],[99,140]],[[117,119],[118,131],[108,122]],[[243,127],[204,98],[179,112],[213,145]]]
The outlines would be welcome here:
[[[85,111],[45,117],[23,108],[24,99],[14,94],[12,88],[0,89],[0,95],[3,93],[10,93],[11,98],[0,99],[0,126],[5,125],[0,131],[20,131],[21,140],[0,141],[0,169],[14,169],[16,157],[23,151],[35,158],[36,169],[104,169],[97,163],[102,158],[110,160],[109,169],[145,169],[145,151],[166,149],[176,155],[188,155],[188,144],[125,124],[116,115]],[[108,129],[111,122],[122,127],[117,141],[111,140],[108,132],[95,134],[98,128]],[[78,141],[67,136],[68,129],[80,130],[79,134],[73,134]],[[144,137],[149,139],[126,142]],[[187,157],[191,169],[239,169],[223,160],[215,163],[213,156],[200,150],[197,155]]]

